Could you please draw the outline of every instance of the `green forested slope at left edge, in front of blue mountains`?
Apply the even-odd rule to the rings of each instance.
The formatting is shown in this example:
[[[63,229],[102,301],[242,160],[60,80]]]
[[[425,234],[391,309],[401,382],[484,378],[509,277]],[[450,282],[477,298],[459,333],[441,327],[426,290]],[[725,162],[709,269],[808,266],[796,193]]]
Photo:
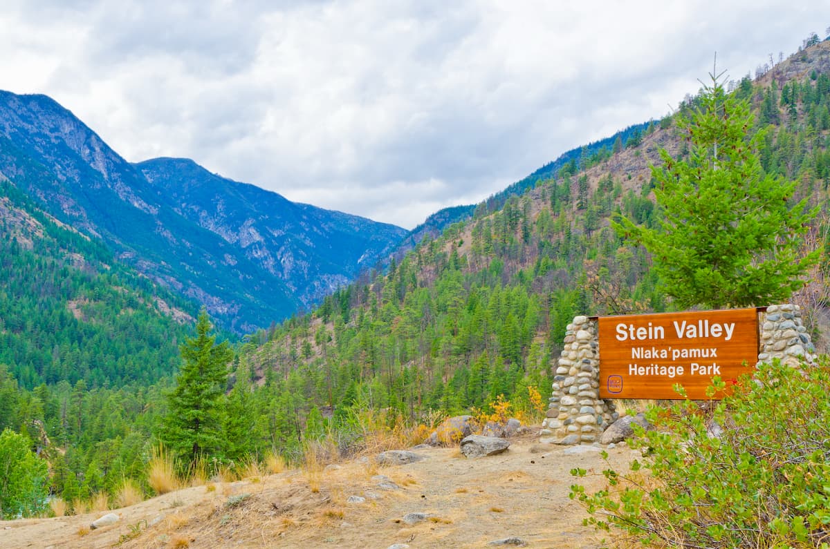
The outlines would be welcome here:
[[[149,385],[178,367],[197,307],[8,181],[0,181],[0,272],[0,370],[20,385]]]

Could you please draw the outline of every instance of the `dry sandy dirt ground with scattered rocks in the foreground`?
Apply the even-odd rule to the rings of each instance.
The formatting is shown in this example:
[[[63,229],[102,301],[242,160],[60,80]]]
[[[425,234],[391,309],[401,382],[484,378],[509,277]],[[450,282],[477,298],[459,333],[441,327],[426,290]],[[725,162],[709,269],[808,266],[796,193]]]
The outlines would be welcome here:
[[[487,547],[507,537],[526,547],[599,547],[568,497],[570,469],[607,469],[598,448],[539,445],[528,436],[486,458],[466,459],[457,448],[417,453],[426,459],[380,467],[362,458],[184,488],[117,509],[119,522],[91,531],[90,522],[105,513],[0,522],[0,547],[415,549]],[[608,454],[618,469],[636,457],[625,446]],[[602,480],[583,484],[600,488]],[[349,503],[350,496],[365,501]],[[427,518],[408,524],[408,513]]]

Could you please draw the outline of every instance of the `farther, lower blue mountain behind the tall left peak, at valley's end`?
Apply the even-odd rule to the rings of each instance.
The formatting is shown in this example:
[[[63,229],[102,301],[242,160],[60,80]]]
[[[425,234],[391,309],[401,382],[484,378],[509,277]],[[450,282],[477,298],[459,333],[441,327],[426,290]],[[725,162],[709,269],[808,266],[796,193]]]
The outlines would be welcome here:
[[[159,202],[220,236],[310,307],[389,254],[400,227],[290,202],[187,158],[135,164]]]

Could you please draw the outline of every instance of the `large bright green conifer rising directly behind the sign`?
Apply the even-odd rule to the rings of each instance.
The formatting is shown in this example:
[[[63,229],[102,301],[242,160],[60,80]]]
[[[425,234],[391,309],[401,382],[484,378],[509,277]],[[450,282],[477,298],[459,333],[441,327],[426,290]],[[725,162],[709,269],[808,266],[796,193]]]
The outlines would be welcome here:
[[[816,211],[805,211],[806,200],[789,204],[796,182],[764,175],[757,153],[764,132],[748,137],[748,101],[727,95],[712,75],[698,102],[677,122],[691,142],[689,160],[662,150],[662,168],[652,168],[665,217],[648,228],[620,216],[614,228],[652,254],[681,309],[784,301],[817,260],[798,253]]]

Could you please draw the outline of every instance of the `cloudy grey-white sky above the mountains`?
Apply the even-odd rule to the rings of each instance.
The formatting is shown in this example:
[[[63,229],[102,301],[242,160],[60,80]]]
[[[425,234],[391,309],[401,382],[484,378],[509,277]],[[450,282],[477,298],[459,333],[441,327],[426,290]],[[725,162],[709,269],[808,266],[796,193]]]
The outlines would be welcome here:
[[[737,80],[830,26],[830,0],[2,4],[0,89],[50,95],[129,161],[407,228],[661,117],[715,51]]]

